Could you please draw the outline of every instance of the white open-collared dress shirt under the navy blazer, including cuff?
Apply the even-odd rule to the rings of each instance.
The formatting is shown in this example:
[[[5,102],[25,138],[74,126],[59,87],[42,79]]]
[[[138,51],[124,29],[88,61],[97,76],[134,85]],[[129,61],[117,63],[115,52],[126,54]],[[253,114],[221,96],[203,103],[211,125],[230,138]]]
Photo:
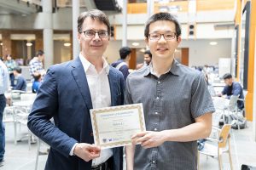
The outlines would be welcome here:
[[[102,58],[103,68],[102,71],[98,73],[95,66],[85,59],[82,54],[79,54],[79,59],[84,67],[84,73],[90,89],[90,98],[93,108],[96,109],[110,106],[111,94],[108,82],[109,65],[107,61]],[[73,149],[75,145],[73,146]],[[70,155],[73,155],[73,149],[71,150]],[[111,149],[102,150],[101,156],[92,161],[92,166],[96,166],[107,161],[111,156],[113,156],[113,151]]]

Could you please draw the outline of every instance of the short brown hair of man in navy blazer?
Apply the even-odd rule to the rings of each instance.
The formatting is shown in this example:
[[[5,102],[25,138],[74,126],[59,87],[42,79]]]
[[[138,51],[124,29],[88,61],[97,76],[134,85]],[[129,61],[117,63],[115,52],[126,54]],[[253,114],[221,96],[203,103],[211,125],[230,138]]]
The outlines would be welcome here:
[[[106,14],[104,14],[101,10],[98,10],[98,9],[91,9],[79,15],[79,18],[78,18],[79,33],[82,33],[83,23],[87,17],[90,17],[92,20],[99,20],[103,24],[105,24],[108,27],[108,35],[110,35],[110,23],[109,23],[108,17]]]

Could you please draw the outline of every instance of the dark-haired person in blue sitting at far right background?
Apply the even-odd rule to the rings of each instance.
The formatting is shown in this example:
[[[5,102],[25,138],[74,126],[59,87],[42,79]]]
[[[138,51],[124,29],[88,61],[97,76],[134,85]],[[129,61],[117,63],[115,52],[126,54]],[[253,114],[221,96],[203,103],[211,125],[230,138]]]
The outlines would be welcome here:
[[[226,86],[224,87],[221,94],[218,96],[226,95],[227,99],[230,99],[231,95],[239,96],[239,99],[244,99],[243,91],[241,88],[241,84],[239,82],[233,82],[232,75],[230,73],[226,73],[223,76],[224,82]],[[243,101],[237,100],[238,109],[242,110],[244,108]]]

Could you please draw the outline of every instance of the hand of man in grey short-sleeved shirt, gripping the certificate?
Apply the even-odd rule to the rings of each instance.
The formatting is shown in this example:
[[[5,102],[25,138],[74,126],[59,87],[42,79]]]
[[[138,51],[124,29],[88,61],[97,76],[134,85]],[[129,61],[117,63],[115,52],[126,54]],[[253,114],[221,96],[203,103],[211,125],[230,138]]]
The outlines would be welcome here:
[[[152,132],[152,131],[146,131],[142,133],[137,133],[136,135],[132,136],[132,144],[138,144],[141,143],[143,148],[153,148],[157,147],[160,144],[163,144],[165,142],[165,134],[164,132]]]

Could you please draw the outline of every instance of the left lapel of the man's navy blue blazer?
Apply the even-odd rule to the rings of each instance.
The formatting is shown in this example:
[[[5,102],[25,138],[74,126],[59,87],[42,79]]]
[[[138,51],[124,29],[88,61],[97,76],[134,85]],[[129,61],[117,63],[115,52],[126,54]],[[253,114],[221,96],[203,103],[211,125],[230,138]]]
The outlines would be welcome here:
[[[84,102],[87,105],[87,108],[90,110],[92,109],[90,89],[88,86],[87,78],[85,77],[85,74],[84,74],[84,67],[79,57],[73,60],[72,67],[73,67],[73,70],[72,70],[73,78],[77,82],[77,85],[83,96]]]

